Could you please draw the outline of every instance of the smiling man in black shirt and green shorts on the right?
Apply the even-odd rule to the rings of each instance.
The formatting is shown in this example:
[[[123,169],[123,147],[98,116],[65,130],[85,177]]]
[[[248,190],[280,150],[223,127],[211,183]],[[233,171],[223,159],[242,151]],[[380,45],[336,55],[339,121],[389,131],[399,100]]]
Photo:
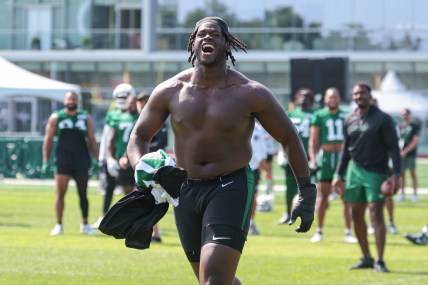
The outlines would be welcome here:
[[[369,85],[357,83],[352,98],[358,108],[345,120],[345,139],[332,185],[339,194],[346,189],[345,201],[351,203],[355,234],[363,253],[361,261],[350,269],[374,268],[376,272],[388,272],[383,261],[386,227],[383,216],[385,197],[381,185],[388,179],[395,192],[400,186],[398,135],[391,116],[370,104],[372,96]],[[392,174],[388,173],[389,158],[393,162]],[[367,207],[375,230],[377,262],[370,254],[367,240],[364,219]]]

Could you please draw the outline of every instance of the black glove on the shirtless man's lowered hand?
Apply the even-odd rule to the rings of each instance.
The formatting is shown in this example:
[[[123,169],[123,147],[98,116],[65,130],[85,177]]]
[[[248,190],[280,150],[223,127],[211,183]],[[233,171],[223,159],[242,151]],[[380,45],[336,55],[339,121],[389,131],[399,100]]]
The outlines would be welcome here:
[[[317,188],[312,184],[309,177],[298,178],[299,199],[291,212],[288,224],[291,226],[300,217],[300,226],[296,229],[298,233],[305,233],[311,228],[314,221],[315,201],[317,199]]]

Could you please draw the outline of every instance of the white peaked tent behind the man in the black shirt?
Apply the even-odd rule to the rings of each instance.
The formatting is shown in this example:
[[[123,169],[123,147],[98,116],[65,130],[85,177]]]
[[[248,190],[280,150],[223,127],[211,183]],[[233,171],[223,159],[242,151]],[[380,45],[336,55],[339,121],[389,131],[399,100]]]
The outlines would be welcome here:
[[[372,91],[372,95],[378,100],[379,108],[387,113],[399,114],[408,108],[418,117],[428,117],[428,97],[408,90],[392,70],[383,78],[380,90]]]

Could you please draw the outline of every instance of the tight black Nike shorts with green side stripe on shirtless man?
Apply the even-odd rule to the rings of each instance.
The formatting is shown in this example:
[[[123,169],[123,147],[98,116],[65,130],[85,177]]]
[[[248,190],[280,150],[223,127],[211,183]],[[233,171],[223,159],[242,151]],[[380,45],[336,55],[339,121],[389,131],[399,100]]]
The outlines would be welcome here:
[[[174,216],[187,259],[199,262],[201,247],[207,243],[242,252],[253,196],[254,177],[249,166],[221,177],[186,179]]]

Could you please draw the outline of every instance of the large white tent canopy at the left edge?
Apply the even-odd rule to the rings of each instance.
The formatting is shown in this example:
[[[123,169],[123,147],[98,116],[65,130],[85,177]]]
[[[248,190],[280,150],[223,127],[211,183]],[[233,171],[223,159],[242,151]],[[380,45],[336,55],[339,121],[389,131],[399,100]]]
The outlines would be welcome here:
[[[80,96],[78,85],[40,76],[0,57],[0,99],[36,96],[62,102],[68,91]]]

